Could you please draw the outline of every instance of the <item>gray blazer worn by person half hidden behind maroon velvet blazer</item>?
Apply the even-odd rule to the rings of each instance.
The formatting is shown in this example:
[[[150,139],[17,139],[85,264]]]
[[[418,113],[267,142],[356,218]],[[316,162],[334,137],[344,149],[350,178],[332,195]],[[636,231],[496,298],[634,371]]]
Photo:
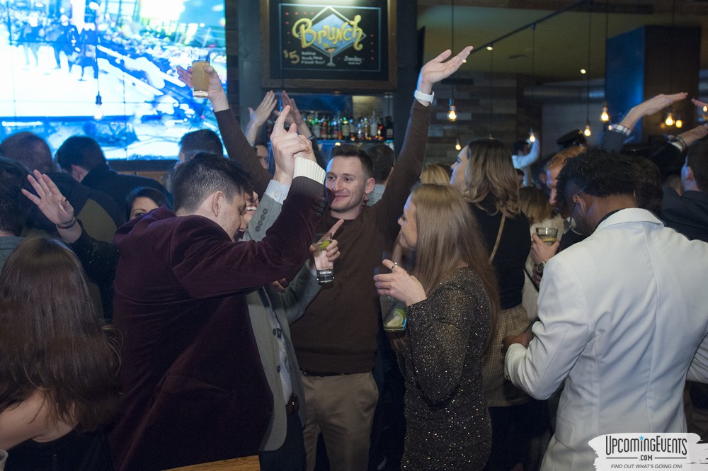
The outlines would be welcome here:
[[[253,215],[249,229],[244,234],[244,240],[263,239],[265,232],[280,214],[281,208],[282,205],[280,203],[268,195],[263,195],[261,203],[258,204],[256,214]],[[310,273],[307,266],[303,266],[302,270],[299,271],[295,279],[287,287],[285,293],[280,293],[279,290],[272,286],[264,286],[246,297],[249,304],[253,334],[256,336],[256,344],[258,344],[258,353],[261,354],[265,377],[268,378],[268,385],[273,392],[273,414],[270,416],[268,431],[265,432],[265,437],[261,443],[261,450],[263,451],[280,448],[285,441],[285,433],[287,431],[286,398],[282,395],[280,373],[277,370],[278,365],[280,365],[278,337],[273,334],[273,328],[270,327],[270,322],[268,322],[268,310],[273,309],[275,317],[280,322],[282,336],[285,339],[288,364],[290,365],[292,392],[300,398],[298,415],[300,421],[304,424],[304,392],[297,358],[295,358],[295,349],[292,348],[292,341],[290,341],[290,327],[288,324],[295,322],[302,316],[305,307],[309,305],[320,289],[316,276]]]

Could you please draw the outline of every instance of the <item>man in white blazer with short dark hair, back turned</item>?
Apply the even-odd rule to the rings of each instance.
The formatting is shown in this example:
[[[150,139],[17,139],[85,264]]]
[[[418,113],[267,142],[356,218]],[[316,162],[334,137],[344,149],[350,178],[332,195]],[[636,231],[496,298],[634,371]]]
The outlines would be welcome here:
[[[596,436],[686,430],[683,385],[708,331],[708,244],[636,208],[616,154],[569,159],[557,191],[590,236],[548,261],[534,338],[505,339],[506,374],[537,399],[564,385],[542,470],[592,470]],[[708,362],[693,368],[708,377]]]

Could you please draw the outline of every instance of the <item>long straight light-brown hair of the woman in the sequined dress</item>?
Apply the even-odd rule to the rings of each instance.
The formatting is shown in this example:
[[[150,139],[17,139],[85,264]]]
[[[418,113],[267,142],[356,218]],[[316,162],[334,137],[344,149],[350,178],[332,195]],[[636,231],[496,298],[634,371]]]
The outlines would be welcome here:
[[[453,186],[423,184],[413,188],[411,203],[416,205],[418,228],[413,274],[430,295],[457,271],[460,262],[472,268],[489,296],[489,342],[499,311],[498,288],[484,239],[467,201]]]

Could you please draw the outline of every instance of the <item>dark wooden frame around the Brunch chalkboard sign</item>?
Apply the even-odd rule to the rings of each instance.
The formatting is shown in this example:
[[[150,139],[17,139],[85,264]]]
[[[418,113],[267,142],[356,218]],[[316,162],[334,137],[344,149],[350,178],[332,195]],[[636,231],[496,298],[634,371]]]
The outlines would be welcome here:
[[[342,1],[342,0],[332,0],[328,4],[325,4],[321,0],[312,1],[298,1],[298,0],[261,0],[261,72],[262,80],[261,85],[268,89],[290,89],[294,91],[313,91],[315,93],[321,93],[323,91],[328,93],[360,93],[362,91],[394,91],[396,89],[396,0],[369,0],[366,2],[366,6],[362,8],[382,8],[386,11],[385,21],[381,21],[380,33],[381,38],[385,39],[385,42],[381,43],[380,50],[377,51],[379,54],[379,60],[382,60],[380,64],[380,72],[385,74],[386,77],[382,79],[324,79],[321,78],[326,74],[327,69],[321,67],[319,64],[319,69],[302,69],[294,72],[293,77],[288,77],[287,69],[283,66],[284,60],[282,59],[284,53],[282,50],[282,43],[280,42],[280,33],[285,31],[286,28],[281,25],[280,31],[272,31],[271,24],[274,21],[278,21],[277,18],[273,18],[273,15],[278,15],[279,7],[281,4],[303,4],[308,8],[319,8],[320,11],[324,11],[327,8],[336,9],[338,7],[342,8],[356,8],[352,5],[353,1]],[[316,15],[315,15],[316,18]],[[379,38],[380,40],[380,38]],[[276,52],[276,50],[278,52]],[[321,50],[316,50],[318,53],[313,54],[314,56],[323,55],[324,52]],[[386,53],[384,55],[384,52]],[[271,64],[271,55],[278,54],[280,58],[280,67],[274,68]],[[388,60],[383,59],[387,55]],[[318,57],[321,61],[321,57]],[[330,55],[329,61],[332,62],[332,56]],[[280,74],[281,68],[283,69],[282,76]],[[274,70],[275,69],[275,70]],[[343,69],[332,69],[336,75],[345,76],[346,70]],[[355,72],[354,72],[355,73]],[[310,75],[310,76],[308,76]],[[349,74],[351,75],[351,73]],[[361,73],[365,75],[365,73]]]

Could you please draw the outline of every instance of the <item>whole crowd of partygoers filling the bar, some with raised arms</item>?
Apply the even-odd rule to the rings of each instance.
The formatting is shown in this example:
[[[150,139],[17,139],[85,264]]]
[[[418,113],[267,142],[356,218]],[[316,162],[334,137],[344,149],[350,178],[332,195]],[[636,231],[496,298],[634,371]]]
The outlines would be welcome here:
[[[660,95],[554,154],[543,187],[538,140],[424,168],[433,86],[470,51],[422,67],[395,156],[322,155],[287,93],[242,132],[212,67],[221,138],[185,135],[168,188],[90,137],[1,142],[6,470],[590,469],[597,436],[698,426],[708,127],[623,149],[686,98]],[[384,333],[392,300],[405,329]]]

